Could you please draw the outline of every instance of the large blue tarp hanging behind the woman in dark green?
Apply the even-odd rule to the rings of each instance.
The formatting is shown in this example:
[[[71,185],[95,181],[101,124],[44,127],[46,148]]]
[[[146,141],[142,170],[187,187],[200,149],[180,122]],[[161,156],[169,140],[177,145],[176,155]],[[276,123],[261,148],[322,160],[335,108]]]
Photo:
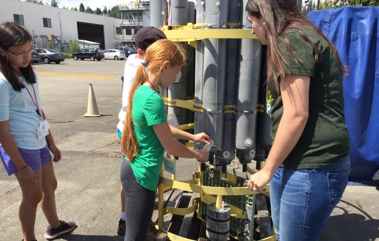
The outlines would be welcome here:
[[[349,66],[349,76],[343,82],[351,138],[349,180],[372,180],[379,169],[379,7],[311,11],[307,18]]]

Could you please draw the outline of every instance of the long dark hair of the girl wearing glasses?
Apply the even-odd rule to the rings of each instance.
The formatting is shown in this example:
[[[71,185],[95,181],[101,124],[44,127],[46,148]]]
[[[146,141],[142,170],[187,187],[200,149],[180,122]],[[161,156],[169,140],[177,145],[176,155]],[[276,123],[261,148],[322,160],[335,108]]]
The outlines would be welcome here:
[[[15,91],[21,91],[24,85],[18,82],[17,72],[8,62],[7,53],[3,49],[8,50],[11,46],[23,45],[27,41],[32,41],[32,36],[23,26],[11,22],[0,24],[0,47],[2,48],[0,48],[0,72],[7,78]],[[20,68],[20,70],[28,83],[35,83],[35,76],[30,63],[28,67]]]

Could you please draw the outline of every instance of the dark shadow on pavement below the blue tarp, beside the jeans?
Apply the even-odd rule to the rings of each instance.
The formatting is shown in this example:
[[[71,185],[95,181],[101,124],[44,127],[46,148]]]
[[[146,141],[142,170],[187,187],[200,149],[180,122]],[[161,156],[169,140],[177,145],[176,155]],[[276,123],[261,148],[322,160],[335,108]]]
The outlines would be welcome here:
[[[373,241],[379,238],[379,220],[372,218],[363,209],[341,200],[350,209],[355,208],[360,213],[349,213],[345,208],[336,207],[344,213],[330,216],[320,240],[360,240]]]

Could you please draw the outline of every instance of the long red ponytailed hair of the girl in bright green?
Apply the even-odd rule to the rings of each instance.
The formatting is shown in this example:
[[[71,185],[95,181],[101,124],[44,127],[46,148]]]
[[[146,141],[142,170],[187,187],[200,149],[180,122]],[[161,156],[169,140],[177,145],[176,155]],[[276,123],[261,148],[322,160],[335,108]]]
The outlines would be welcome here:
[[[184,65],[186,54],[183,47],[167,39],[161,39],[150,45],[145,53],[145,61],[148,63],[147,71],[159,75],[163,68],[163,63],[169,61],[171,65]],[[132,105],[135,91],[139,86],[148,80],[148,75],[144,65],[138,67],[129,92],[128,106],[124,121],[124,130],[121,138],[121,146],[128,160],[132,161],[138,154],[139,147],[134,131]]]

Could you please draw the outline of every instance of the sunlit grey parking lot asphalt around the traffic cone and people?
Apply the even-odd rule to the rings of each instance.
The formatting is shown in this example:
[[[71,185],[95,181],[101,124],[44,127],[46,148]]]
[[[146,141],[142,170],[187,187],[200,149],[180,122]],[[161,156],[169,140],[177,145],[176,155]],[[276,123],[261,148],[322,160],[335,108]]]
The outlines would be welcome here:
[[[121,108],[124,61],[66,59],[61,64],[37,64],[43,109],[52,127],[62,160],[54,164],[58,180],[59,218],[77,223],[72,234],[55,240],[124,240],[117,236],[119,201],[119,139],[116,135]],[[93,83],[101,117],[84,117],[89,83]],[[238,162],[233,162],[238,166]],[[254,163],[251,164],[251,167]],[[177,179],[189,179],[196,162],[179,159]],[[166,173],[169,176],[168,173]],[[325,241],[379,240],[379,192],[375,187],[348,186],[320,238]],[[0,240],[21,240],[18,206],[21,190],[14,176],[0,168]],[[37,211],[38,240],[47,222]]]

